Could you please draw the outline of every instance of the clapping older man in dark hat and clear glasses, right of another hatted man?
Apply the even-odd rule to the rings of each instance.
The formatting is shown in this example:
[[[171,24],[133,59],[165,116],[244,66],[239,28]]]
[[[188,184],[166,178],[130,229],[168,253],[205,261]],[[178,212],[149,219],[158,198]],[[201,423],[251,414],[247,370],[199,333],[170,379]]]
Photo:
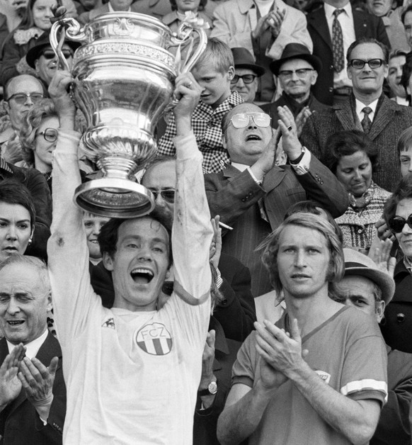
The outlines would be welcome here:
[[[319,57],[311,55],[307,47],[300,43],[286,45],[282,57],[270,64],[270,70],[279,79],[282,88],[282,96],[277,101],[262,106],[262,110],[272,118],[273,128],[277,128],[278,106],[287,106],[292,111],[298,136],[313,111],[328,109],[311,94],[311,86],[316,84],[321,69]]]

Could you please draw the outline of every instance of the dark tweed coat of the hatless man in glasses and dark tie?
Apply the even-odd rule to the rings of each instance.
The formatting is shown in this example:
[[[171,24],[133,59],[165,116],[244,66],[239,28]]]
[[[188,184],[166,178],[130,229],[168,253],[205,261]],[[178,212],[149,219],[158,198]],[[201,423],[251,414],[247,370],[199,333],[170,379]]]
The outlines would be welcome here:
[[[368,137],[378,149],[379,166],[374,171],[373,180],[385,190],[393,191],[401,179],[396,144],[399,135],[411,125],[412,108],[399,105],[382,95]],[[328,137],[342,130],[362,131],[353,96],[343,105],[312,114],[303,128],[302,144],[324,162]]]

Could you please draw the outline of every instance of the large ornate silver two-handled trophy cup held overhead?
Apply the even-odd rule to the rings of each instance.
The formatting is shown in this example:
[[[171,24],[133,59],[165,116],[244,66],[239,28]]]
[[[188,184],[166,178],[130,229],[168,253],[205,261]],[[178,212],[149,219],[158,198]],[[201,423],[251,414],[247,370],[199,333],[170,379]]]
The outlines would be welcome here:
[[[207,43],[205,31],[190,23],[172,35],[157,18],[117,12],[98,16],[84,28],[73,18],[52,26],[50,44],[67,69],[64,38],[86,43],[74,54],[71,94],[86,117],[83,150],[103,177],[76,188],[74,201],[84,210],[135,218],[154,208],[153,195],[134,174],[156,154],[154,127],[171,106],[178,69],[168,48],[187,42],[193,32],[198,45],[181,72],[193,68]]]

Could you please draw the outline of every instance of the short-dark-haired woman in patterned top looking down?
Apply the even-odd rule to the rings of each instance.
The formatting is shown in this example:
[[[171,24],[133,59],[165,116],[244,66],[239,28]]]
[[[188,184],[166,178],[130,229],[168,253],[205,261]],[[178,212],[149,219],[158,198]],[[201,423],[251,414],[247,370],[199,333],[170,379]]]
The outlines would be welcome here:
[[[336,218],[343,232],[343,247],[367,254],[376,235],[375,223],[381,218],[389,191],[374,184],[377,148],[362,131],[335,133],[326,142],[326,167],[348,192],[348,210]]]

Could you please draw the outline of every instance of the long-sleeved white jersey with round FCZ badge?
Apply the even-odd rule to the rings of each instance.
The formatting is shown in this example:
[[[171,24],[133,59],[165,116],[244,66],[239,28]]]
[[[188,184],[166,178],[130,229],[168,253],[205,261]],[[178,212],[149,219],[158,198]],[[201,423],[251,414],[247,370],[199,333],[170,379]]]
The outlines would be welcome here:
[[[48,245],[67,382],[64,444],[191,444],[210,318],[212,238],[195,138],[178,142],[187,150],[177,160],[174,291],[151,312],[103,308],[91,288],[81,210],[72,203],[77,142],[59,135]]]

